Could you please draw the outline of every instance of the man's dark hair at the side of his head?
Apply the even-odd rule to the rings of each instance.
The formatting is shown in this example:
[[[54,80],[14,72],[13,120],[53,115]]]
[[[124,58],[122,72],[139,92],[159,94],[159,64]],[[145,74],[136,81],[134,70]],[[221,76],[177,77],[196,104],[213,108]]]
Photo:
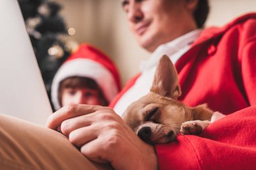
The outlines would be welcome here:
[[[209,11],[210,7],[208,0],[199,0],[197,8],[194,11],[195,23],[198,28],[203,28],[203,24],[205,24]]]

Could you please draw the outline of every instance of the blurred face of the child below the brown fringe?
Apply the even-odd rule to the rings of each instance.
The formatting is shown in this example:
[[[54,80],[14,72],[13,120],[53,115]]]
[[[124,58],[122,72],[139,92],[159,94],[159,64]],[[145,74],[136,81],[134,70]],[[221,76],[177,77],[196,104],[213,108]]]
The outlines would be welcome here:
[[[98,91],[94,89],[88,89],[86,87],[63,89],[61,103],[62,105],[67,105],[71,103],[90,105],[102,104],[100,103]]]

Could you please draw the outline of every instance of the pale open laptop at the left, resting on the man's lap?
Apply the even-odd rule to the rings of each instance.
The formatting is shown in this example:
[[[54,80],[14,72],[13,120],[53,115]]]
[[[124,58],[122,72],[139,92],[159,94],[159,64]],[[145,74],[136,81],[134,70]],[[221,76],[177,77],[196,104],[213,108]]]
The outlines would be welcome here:
[[[0,113],[44,126],[53,113],[17,0],[0,0]]]

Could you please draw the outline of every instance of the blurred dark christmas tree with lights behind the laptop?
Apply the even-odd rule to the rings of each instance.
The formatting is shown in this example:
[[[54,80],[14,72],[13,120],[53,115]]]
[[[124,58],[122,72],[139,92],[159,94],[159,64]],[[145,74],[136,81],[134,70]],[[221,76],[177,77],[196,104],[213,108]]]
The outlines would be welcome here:
[[[59,15],[61,6],[47,0],[18,0],[36,54],[46,91],[51,99],[53,77],[75,48],[63,40],[67,28]]]

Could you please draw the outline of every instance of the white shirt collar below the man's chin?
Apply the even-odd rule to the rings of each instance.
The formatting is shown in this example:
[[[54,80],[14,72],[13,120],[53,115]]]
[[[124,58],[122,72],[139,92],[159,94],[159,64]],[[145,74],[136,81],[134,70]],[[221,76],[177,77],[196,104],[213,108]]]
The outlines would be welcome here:
[[[193,30],[187,34],[184,34],[183,36],[180,36],[179,38],[172,40],[171,42],[158,46],[148,60],[141,62],[140,70],[143,72],[155,67],[158,60],[160,60],[164,54],[168,55],[175,64],[181,57],[181,54],[177,56],[174,56],[174,54],[177,52],[182,52],[183,50],[186,52],[191,44],[197,40],[201,32],[201,29]]]

